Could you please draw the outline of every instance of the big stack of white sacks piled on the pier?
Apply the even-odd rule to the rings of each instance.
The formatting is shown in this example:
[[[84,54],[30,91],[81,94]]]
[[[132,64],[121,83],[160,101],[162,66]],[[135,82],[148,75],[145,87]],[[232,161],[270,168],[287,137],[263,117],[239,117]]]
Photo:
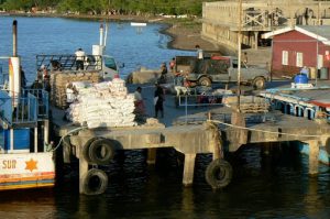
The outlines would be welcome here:
[[[78,94],[67,110],[67,119],[87,123],[89,129],[99,127],[133,127],[134,95],[128,94],[125,81],[114,78],[100,84],[74,84]]]

